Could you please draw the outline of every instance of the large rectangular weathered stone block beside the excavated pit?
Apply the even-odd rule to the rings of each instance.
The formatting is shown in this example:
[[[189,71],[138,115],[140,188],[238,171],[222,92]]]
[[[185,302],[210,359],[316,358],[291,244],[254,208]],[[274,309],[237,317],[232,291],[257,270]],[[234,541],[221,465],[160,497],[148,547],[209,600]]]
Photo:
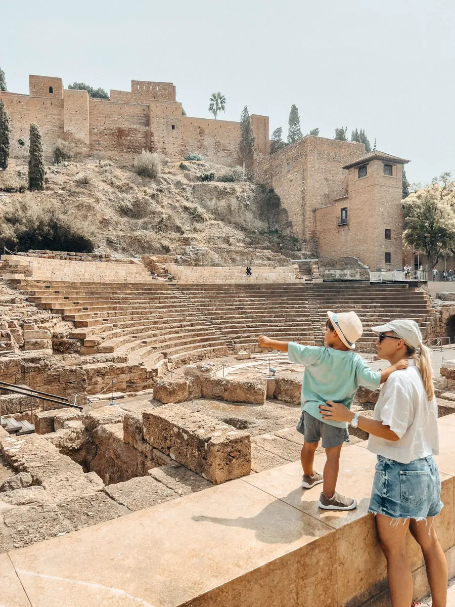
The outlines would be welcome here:
[[[147,443],[214,484],[251,472],[248,432],[175,404],[144,412],[143,424]]]

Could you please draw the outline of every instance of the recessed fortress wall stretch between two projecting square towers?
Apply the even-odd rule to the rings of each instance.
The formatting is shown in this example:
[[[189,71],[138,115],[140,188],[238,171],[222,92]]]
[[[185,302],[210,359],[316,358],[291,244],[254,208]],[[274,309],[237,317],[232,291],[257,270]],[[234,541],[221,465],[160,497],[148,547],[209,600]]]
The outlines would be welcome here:
[[[89,99],[90,150],[135,153],[150,148],[149,107]]]

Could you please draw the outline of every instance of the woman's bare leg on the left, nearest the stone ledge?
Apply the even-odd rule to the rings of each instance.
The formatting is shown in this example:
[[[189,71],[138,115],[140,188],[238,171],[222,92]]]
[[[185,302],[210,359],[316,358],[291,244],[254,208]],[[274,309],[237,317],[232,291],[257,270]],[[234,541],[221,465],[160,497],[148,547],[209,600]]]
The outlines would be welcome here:
[[[381,548],[387,559],[387,575],[392,607],[409,607],[413,600],[413,577],[406,555],[409,520],[376,515]]]

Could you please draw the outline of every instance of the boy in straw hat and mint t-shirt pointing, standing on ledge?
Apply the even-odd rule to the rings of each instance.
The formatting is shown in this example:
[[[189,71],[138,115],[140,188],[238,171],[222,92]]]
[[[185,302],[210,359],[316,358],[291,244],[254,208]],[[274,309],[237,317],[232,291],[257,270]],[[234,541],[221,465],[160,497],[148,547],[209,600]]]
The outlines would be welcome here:
[[[391,373],[406,368],[408,361],[399,361],[383,371],[372,371],[363,358],[352,351],[363,333],[362,322],[357,314],[335,314],[328,311],[327,315],[325,347],[281,342],[263,335],[258,341],[261,347],[288,352],[290,361],[305,365],[300,405],[302,416],[297,426],[298,432],[305,437],[300,455],[303,467],[302,487],[309,489],[323,483],[320,508],[353,510],[357,501],[335,491],[341,449],[349,437],[348,424],[322,419],[319,405],[342,402],[351,409],[359,385],[376,390]],[[357,427],[357,419],[358,416],[354,416],[352,427]],[[323,475],[313,470],[314,454],[321,438],[327,457]]]

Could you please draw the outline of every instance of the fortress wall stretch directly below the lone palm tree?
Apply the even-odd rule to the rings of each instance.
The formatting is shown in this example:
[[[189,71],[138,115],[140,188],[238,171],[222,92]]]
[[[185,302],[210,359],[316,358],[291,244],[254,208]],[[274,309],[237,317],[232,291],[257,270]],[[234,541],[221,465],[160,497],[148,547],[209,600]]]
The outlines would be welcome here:
[[[227,120],[182,117],[182,153],[195,152],[225,166],[240,164],[240,123]]]

